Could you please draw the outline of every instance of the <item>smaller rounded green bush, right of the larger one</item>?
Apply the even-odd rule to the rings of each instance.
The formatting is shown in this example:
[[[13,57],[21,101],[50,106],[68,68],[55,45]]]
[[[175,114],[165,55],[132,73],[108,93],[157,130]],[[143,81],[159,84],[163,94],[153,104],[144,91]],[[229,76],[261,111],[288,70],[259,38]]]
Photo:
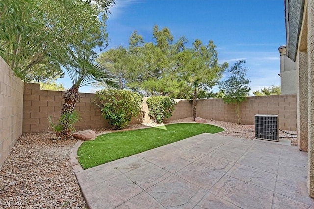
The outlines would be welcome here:
[[[153,122],[162,123],[170,118],[175,110],[176,101],[170,97],[154,96],[147,98],[148,116]]]

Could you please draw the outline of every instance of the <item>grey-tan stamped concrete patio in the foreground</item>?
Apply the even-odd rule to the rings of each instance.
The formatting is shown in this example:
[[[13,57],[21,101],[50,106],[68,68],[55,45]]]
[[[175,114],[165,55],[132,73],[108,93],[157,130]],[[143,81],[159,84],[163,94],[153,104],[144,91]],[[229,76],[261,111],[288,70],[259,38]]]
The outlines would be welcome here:
[[[307,153],[201,134],[76,173],[91,209],[309,209]]]

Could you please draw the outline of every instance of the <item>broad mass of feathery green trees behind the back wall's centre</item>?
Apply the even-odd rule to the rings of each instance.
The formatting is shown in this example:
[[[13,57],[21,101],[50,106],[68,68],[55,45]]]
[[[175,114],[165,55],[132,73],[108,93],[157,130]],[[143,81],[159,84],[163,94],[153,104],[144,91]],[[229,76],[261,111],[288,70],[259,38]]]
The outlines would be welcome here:
[[[174,41],[168,28],[154,26],[153,42],[145,43],[134,31],[128,48],[108,50],[97,61],[133,91],[146,96],[195,97],[196,105],[196,98],[215,96],[211,88],[228,64],[218,64],[212,41],[204,46],[196,40],[192,48],[186,44],[184,36]]]

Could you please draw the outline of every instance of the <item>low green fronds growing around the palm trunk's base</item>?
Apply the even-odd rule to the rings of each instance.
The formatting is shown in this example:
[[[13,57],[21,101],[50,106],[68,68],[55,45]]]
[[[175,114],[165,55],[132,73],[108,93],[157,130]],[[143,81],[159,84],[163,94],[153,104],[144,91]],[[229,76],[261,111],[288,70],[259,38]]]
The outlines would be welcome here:
[[[72,113],[62,115],[57,122],[54,122],[52,116],[48,116],[47,119],[49,122],[49,128],[52,128],[52,130],[55,131],[56,136],[60,137],[61,131],[64,128],[62,124],[67,124],[69,126],[68,130],[73,133],[75,131],[74,124],[78,122],[81,117],[80,113],[77,110],[74,110]]]

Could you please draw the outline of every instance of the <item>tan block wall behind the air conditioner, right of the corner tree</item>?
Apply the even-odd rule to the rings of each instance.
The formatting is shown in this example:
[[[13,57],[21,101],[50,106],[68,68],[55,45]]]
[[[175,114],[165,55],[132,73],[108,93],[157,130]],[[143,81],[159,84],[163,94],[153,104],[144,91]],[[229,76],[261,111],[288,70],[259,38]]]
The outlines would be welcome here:
[[[235,106],[222,99],[198,100],[196,108],[198,117],[237,123]],[[240,113],[244,124],[254,124],[256,114],[275,114],[280,129],[296,131],[296,94],[248,97],[241,104]]]

